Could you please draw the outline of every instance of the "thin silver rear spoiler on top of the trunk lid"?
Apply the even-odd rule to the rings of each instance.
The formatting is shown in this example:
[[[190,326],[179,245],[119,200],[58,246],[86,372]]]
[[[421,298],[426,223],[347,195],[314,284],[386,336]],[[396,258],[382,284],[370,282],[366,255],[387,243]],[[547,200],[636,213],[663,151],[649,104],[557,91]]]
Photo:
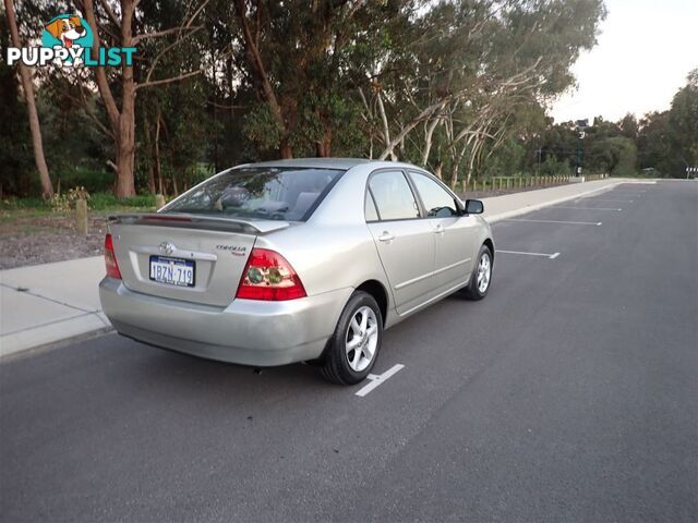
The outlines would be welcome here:
[[[241,218],[218,218],[214,216],[189,215],[179,212],[144,212],[112,215],[109,223],[130,226],[177,227],[179,229],[204,229],[208,231],[246,232],[264,234],[290,227],[281,220],[245,220]]]

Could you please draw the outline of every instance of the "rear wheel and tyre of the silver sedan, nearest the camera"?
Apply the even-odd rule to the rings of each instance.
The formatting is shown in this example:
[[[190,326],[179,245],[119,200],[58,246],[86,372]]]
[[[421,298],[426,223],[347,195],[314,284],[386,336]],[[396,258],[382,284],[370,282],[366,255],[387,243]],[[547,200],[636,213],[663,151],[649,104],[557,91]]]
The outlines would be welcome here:
[[[327,342],[321,373],[333,384],[353,385],[371,373],[383,341],[383,315],[374,297],[354,292]]]

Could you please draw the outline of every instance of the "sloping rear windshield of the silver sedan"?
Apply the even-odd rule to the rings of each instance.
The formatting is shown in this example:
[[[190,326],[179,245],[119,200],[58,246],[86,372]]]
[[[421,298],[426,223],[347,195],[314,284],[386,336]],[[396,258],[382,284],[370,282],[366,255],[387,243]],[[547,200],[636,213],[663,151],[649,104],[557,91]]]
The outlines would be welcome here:
[[[345,171],[248,167],[207,180],[172,202],[165,212],[300,221]]]

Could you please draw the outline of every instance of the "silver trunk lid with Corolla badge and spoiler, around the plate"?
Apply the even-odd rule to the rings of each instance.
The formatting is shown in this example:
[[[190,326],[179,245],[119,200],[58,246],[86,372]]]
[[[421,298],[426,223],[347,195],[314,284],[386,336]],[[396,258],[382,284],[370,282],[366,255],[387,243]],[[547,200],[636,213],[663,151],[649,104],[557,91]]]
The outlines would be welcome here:
[[[205,305],[232,302],[258,234],[289,227],[280,220],[238,220],[177,214],[110,218],[115,254],[125,287],[154,296]],[[152,262],[192,266],[188,287],[154,280]],[[155,270],[155,268],[154,268]]]

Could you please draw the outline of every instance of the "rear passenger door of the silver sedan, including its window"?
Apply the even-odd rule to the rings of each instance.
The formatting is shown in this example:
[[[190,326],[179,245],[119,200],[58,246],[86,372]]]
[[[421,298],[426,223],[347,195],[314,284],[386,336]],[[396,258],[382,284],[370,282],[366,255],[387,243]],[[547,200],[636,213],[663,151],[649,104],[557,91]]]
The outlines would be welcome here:
[[[400,170],[381,170],[369,179],[366,224],[390,283],[398,314],[424,303],[432,291],[434,232]]]

